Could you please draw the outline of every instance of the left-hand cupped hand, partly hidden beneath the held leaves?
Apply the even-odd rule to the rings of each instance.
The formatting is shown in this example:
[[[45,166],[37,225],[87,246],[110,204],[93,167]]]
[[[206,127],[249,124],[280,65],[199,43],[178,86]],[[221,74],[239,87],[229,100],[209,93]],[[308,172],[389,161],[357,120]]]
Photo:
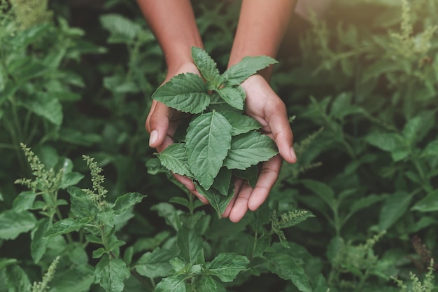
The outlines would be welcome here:
[[[178,74],[189,72],[200,75],[196,65],[188,63],[174,71],[169,71],[163,84]],[[146,130],[150,133],[149,146],[156,148],[158,152],[161,152],[167,148],[167,146],[174,144],[175,131],[179,123],[181,123],[181,120],[187,115],[187,113],[176,111],[176,109],[169,108],[154,99],[152,106],[150,107],[148,118],[146,119]],[[174,176],[179,182],[183,183],[183,185],[188,188],[190,193],[199,197],[199,200],[204,204],[208,203],[206,198],[196,190],[191,179],[179,174],[174,174]]]

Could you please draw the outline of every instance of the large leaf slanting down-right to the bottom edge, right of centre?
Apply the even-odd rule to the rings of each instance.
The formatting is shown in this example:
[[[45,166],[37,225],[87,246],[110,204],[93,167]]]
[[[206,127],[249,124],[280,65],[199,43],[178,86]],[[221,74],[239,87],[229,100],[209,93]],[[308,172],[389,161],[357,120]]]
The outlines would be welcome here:
[[[312,291],[306,273],[303,268],[296,263],[295,258],[285,253],[276,252],[265,253],[264,258],[269,264],[269,270],[277,274],[278,277],[292,281],[299,291]]]

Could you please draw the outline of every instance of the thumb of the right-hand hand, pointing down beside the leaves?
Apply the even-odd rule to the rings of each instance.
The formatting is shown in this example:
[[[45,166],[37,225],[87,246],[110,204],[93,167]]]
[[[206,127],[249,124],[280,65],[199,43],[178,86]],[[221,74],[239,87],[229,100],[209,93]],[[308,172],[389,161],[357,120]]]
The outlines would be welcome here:
[[[272,132],[278,152],[284,160],[290,163],[297,162],[297,155],[293,148],[293,134],[290,129],[288,113],[283,102],[278,102],[271,112],[267,113],[267,122]]]

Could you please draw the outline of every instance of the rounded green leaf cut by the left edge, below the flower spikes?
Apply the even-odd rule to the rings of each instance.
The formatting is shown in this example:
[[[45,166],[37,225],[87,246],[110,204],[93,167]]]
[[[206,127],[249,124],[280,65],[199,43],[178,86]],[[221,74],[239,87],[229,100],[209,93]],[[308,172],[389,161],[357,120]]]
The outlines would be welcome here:
[[[6,210],[0,213],[0,239],[15,239],[34,228],[36,218],[28,211]]]

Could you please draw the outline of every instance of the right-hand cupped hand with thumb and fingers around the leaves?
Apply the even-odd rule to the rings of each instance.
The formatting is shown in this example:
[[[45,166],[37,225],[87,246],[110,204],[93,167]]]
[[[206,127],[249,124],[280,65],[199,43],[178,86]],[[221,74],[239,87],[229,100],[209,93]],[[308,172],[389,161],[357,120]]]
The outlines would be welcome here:
[[[235,180],[236,191],[223,217],[232,222],[243,218],[248,209],[257,210],[267,199],[269,191],[280,172],[283,159],[290,163],[297,161],[292,147],[293,134],[290,129],[285,104],[260,75],[253,75],[242,83],[246,91],[246,113],[262,124],[262,132],[274,139],[279,155],[262,163],[259,178],[252,188],[247,181]]]

